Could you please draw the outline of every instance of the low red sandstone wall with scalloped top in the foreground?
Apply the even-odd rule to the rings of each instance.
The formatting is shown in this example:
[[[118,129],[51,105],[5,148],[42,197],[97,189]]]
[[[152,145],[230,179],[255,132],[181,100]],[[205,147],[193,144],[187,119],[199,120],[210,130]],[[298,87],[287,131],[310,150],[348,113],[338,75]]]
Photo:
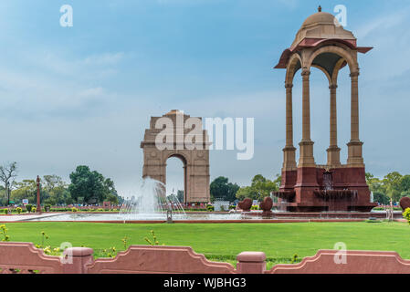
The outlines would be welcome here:
[[[299,264],[266,270],[266,255],[243,252],[237,268],[211,262],[189,246],[131,245],[114,258],[93,258],[93,250],[73,247],[63,256],[44,255],[31,243],[0,243],[2,274],[410,274],[410,261],[395,252],[320,250]]]

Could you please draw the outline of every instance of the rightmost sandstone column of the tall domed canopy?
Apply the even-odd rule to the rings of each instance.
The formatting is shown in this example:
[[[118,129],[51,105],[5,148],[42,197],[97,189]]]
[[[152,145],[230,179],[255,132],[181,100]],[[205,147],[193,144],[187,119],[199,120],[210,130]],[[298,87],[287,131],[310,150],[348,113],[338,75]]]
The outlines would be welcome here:
[[[351,73],[352,79],[352,105],[351,105],[351,141],[348,146],[347,163],[350,166],[363,166],[362,145],[359,140],[359,72]]]

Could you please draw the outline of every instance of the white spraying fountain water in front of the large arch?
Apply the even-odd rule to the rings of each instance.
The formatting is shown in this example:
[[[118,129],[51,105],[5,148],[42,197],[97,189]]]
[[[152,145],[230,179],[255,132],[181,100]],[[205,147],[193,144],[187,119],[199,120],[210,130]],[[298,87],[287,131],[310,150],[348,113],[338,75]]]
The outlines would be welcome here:
[[[129,220],[166,220],[172,213],[178,219],[186,216],[184,208],[173,194],[166,196],[165,185],[150,177],[144,178],[137,196],[122,203],[120,217]]]

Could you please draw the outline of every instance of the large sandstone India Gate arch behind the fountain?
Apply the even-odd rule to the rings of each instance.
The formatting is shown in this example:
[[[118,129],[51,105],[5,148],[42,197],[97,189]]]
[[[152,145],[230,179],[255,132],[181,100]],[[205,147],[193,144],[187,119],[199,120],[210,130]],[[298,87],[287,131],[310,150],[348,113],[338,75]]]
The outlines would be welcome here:
[[[173,145],[158,149],[155,138],[163,129],[156,129],[157,120],[168,118],[173,121]],[[180,159],[184,164],[184,203],[208,203],[210,201],[209,150],[206,130],[202,130],[202,147],[188,149],[184,143],[177,145],[177,136],[185,136],[191,129],[185,129],[185,121],[191,117],[180,110],[171,110],[162,117],[151,117],[150,128],[145,130],[141,142],[143,151],[142,178],[151,177],[166,185],[166,162],[171,157]],[[183,121],[178,125],[177,120]],[[201,121],[202,119],[196,118]],[[181,127],[182,126],[182,127]],[[201,149],[202,148],[202,149]]]

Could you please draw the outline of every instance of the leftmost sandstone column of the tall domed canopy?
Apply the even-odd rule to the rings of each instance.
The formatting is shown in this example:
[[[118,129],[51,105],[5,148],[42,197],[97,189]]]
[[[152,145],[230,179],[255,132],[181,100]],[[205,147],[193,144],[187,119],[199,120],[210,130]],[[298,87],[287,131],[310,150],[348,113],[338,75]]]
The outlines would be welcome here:
[[[293,84],[286,83],[286,145],[283,149],[283,169],[296,168],[295,151],[293,146],[293,115],[292,115],[292,87]]]

